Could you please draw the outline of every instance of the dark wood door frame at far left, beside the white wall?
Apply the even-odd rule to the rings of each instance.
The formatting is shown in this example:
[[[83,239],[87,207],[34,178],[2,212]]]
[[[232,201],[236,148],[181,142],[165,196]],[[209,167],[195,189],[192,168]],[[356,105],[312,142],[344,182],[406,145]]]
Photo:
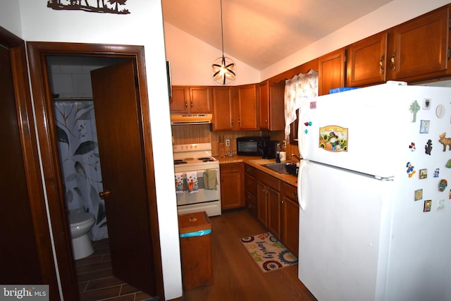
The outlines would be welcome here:
[[[8,49],[11,54],[13,89],[16,98],[19,126],[18,130],[22,144],[27,190],[30,195],[28,206],[30,207],[32,224],[35,231],[34,234],[37,245],[37,255],[39,257],[39,266],[41,267],[42,283],[48,284],[50,295],[54,297],[54,300],[59,300],[58,281],[39,168],[35,121],[32,113],[30,86],[28,84],[25,42],[23,39],[13,35],[3,27],[0,27],[0,45],[1,47]],[[8,202],[8,200],[4,201]]]

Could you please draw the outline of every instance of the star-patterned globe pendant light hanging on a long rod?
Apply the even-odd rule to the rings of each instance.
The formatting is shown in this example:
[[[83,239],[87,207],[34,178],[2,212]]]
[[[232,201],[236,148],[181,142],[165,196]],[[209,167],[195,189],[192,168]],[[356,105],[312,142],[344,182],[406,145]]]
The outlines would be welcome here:
[[[224,56],[224,32],[223,32],[223,1],[221,1],[221,39],[223,56],[216,59],[211,65],[211,71],[215,82],[221,85],[228,85],[235,80],[235,62]]]

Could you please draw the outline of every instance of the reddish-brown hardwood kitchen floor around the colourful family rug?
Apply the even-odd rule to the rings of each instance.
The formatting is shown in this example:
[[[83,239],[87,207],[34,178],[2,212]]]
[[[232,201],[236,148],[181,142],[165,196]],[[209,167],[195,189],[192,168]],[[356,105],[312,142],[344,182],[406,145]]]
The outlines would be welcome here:
[[[187,301],[316,300],[297,278],[297,264],[263,273],[240,238],[265,233],[247,209],[210,218],[214,285],[185,291]]]

